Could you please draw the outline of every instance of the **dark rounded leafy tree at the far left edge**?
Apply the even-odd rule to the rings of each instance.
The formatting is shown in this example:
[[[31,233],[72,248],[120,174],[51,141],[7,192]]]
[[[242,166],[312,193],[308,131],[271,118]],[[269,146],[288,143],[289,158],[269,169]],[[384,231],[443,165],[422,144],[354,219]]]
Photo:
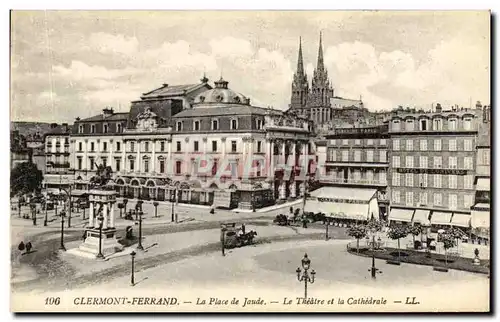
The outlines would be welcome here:
[[[42,184],[43,174],[33,162],[16,165],[10,173],[10,195],[24,195],[34,192]]]

